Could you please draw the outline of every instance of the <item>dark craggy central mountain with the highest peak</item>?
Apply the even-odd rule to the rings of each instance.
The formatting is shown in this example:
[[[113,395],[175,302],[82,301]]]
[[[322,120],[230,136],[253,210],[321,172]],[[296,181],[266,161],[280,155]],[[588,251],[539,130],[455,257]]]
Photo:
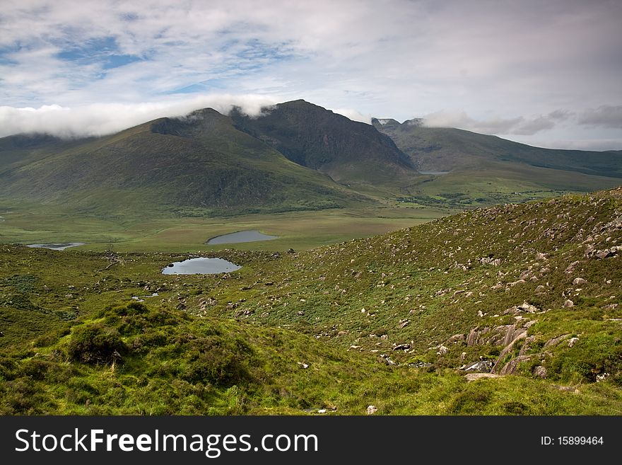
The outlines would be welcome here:
[[[301,166],[340,183],[395,183],[416,175],[416,163],[374,127],[303,100],[266,108],[259,117],[231,113],[235,126]]]

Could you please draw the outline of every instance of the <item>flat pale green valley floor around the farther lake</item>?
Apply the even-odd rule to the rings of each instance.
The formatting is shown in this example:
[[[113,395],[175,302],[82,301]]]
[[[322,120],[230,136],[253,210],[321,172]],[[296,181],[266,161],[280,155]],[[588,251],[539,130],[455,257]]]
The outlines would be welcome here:
[[[441,209],[385,207],[331,209],[319,212],[254,214],[237,217],[97,218],[58,207],[13,205],[0,200],[0,243],[84,242],[101,251],[303,250],[357,237],[383,234],[447,214]],[[221,234],[257,229],[279,236],[274,241],[218,244],[205,242]]]

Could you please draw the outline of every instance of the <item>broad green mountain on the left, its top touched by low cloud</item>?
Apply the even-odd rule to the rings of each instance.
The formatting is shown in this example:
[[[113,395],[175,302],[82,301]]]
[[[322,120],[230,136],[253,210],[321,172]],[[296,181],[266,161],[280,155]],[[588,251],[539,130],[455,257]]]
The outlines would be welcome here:
[[[0,181],[4,197],[95,212],[236,214],[334,208],[363,199],[209,108],[101,138],[5,137]]]

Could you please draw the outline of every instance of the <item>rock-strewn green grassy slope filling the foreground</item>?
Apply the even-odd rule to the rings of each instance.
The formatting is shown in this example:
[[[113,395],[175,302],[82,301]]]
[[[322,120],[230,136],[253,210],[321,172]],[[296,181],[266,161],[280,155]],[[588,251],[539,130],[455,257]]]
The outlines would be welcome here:
[[[0,405],[4,413],[364,413],[374,404],[380,413],[620,414],[621,253],[596,254],[621,243],[616,190],[464,212],[307,252],[214,252],[243,266],[230,275],[160,275],[187,254],[2,246]],[[573,284],[577,277],[586,282]],[[151,292],[159,295],[148,309],[127,309],[132,295]],[[523,302],[538,312],[504,314]],[[463,362],[499,357],[503,343],[489,338],[498,328],[528,321],[529,338],[502,360],[523,350],[519,376],[461,376]],[[76,349],[93,325],[121,360],[99,346]],[[560,335],[565,342],[545,350]],[[411,348],[393,350],[403,343]],[[379,363],[381,354],[399,366]],[[416,362],[432,366],[409,366]]]

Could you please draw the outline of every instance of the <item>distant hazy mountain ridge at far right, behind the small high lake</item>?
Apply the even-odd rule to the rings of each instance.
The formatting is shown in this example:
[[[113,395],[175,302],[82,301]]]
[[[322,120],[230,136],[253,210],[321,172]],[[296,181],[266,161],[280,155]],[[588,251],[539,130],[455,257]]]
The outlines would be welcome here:
[[[481,168],[491,162],[524,163],[537,168],[576,171],[622,178],[622,154],[614,151],[542,149],[496,136],[444,127],[425,127],[422,120],[372,119],[421,171]]]

